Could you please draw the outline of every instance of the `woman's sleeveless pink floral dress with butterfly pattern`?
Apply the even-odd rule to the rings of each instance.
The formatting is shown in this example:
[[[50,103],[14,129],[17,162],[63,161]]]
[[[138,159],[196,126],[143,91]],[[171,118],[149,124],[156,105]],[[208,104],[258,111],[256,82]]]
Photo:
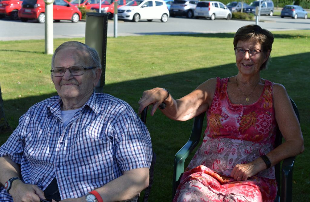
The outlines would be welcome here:
[[[273,83],[265,80],[262,95],[251,105],[233,104],[227,94],[229,78],[217,78],[207,128],[176,191],[176,201],[274,201],[277,182],[274,167],[246,181],[230,173],[236,164],[248,163],[274,147],[277,123],[272,106]]]

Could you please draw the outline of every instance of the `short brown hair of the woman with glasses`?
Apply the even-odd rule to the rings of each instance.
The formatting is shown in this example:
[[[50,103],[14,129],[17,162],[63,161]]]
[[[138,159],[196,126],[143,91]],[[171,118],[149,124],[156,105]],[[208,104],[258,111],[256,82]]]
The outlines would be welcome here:
[[[243,26],[237,30],[233,39],[233,45],[234,47],[237,47],[238,41],[255,40],[261,44],[262,50],[266,54],[268,50],[271,51],[272,49],[273,39],[273,34],[267,29],[262,29],[260,26],[255,24],[250,24]],[[270,54],[268,55],[268,59],[266,60],[266,62],[264,62],[260,67],[260,70],[267,68],[269,58]]]

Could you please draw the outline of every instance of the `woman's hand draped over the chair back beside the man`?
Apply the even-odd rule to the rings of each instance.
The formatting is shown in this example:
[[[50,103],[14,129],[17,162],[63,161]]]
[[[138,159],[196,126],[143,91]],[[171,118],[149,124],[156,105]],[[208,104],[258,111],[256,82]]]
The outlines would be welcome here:
[[[148,105],[153,105],[151,110],[151,115],[153,116],[158,106],[162,104],[167,96],[168,92],[164,88],[153,88],[151,90],[144,91],[141,99],[138,102],[140,105],[138,114],[141,114],[144,108]]]

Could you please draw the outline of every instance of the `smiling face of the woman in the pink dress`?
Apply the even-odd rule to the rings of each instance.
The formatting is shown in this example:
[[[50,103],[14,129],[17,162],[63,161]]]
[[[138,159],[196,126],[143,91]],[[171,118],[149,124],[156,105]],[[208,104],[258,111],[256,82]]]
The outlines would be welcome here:
[[[261,50],[261,44],[258,41],[250,40],[250,41],[238,41],[237,43],[238,48],[242,48],[245,50],[250,49],[259,49]],[[270,54],[270,51],[263,52],[261,51],[258,54],[250,55],[248,51],[246,51],[244,54],[239,55],[237,54],[237,51],[235,52],[236,55],[236,63],[239,72],[246,75],[251,75],[258,73],[260,70],[260,67],[266,60],[268,59],[268,55]]]

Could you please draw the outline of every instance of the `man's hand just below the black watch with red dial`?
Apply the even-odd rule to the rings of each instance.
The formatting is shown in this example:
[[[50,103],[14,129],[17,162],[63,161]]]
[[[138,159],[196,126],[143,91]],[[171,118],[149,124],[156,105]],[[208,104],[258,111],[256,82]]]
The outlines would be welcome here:
[[[40,198],[45,199],[44,192],[33,184],[25,184],[20,180],[12,183],[9,193],[14,202],[40,202]]]

